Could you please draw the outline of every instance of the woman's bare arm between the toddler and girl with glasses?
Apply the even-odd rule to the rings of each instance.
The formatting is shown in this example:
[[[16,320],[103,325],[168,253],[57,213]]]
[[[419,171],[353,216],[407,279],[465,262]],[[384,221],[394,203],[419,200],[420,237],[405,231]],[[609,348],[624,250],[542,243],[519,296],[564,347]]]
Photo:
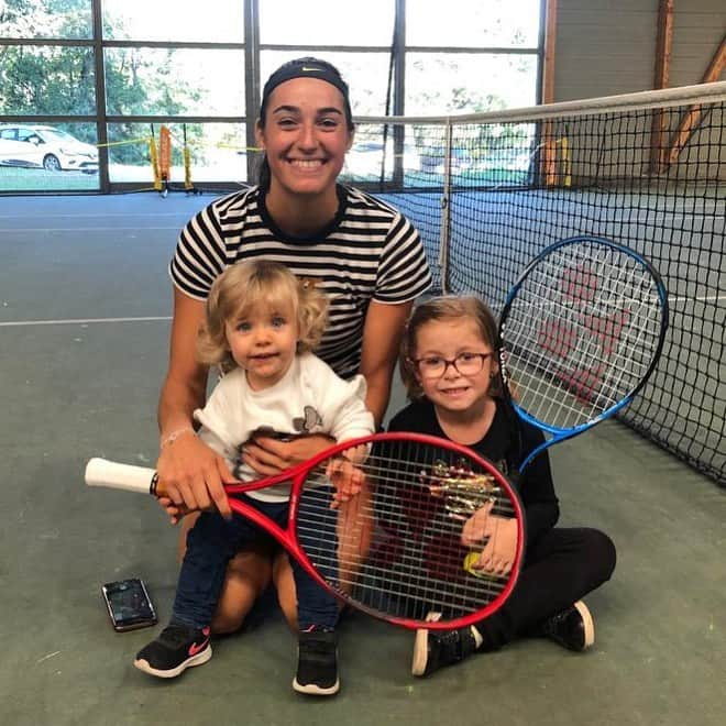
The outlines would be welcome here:
[[[413,300],[397,305],[372,300],[369,305],[363,326],[360,372],[369,387],[365,405],[373,414],[376,426],[381,426],[388,408],[400,339],[413,306]]]

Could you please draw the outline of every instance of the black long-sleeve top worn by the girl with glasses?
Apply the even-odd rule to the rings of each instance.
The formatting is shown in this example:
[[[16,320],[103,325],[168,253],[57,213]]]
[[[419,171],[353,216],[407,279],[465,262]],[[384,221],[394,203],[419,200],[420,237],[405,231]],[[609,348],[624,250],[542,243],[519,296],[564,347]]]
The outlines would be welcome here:
[[[388,430],[449,438],[439,425],[433,404],[428,398],[415,400],[396,414],[388,425]],[[509,404],[497,399],[490,430],[481,441],[468,444],[470,449],[486,457],[515,481],[525,509],[528,544],[551,529],[560,516],[547,451],[540,453],[521,476],[512,476],[517,471],[518,464],[543,440],[544,437],[539,429],[520,420]]]

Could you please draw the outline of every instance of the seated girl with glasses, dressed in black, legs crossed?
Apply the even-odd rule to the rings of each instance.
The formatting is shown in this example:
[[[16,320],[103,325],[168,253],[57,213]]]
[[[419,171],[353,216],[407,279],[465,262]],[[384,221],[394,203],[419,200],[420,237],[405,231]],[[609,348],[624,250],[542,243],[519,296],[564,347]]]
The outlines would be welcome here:
[[[543,440],[521,421],[502,395],[497,326],[474,297],[438,297],[419,305],[404,334],[400,371],[411,403],[391,421],[391,431],[450,439],[486,457],[514,481],[525,508],[527,549],[509,600],[475,626],[416,634],[411,671],[429,675],[476,651],[496,650],[522,636],[546,636],[582,651],[595,638],[584,595],[609,579],[615,547],[590,528],[556,527],[559,504],[550,462],[542,452],[518,475],[518,465]],[[516,382],[515,382],[516,383]],[[487,513],[466,522],[463,537],[474,544]],[[507,573],[516,532],[492,538],[474,568]],[[438,615],[430,613],[429,618]]]

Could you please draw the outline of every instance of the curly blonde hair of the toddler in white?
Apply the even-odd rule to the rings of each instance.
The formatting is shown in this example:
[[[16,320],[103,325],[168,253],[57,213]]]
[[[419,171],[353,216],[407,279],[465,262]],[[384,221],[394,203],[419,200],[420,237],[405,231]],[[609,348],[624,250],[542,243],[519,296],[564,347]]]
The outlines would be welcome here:
[[[328,298],[310,279],[298,279],[285,265],[270,260],[246,260],[228,267],[209,290],[205,321],[197,336],[200,363],[231,371],[237,363],[227,342],[230,320],[245,317],[251,310],[293,311],[297,321],[297,352],[317,348],[328,324]]]

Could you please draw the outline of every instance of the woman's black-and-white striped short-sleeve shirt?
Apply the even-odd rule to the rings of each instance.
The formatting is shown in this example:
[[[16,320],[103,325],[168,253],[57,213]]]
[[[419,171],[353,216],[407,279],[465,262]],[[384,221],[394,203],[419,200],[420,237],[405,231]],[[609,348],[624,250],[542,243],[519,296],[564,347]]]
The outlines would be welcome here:
[[[396,209],[359,189],[338,186],[336,218],[309,238],[285,234],[258,187],[217,199],[182,230],[169,265],[174,285],[205,300],[221,272],[264,256],[316,280],[329,300],[329,326],[316,353],[340,376],[360,367],[369,302],[413,300],[431,284],[424,245]]]

